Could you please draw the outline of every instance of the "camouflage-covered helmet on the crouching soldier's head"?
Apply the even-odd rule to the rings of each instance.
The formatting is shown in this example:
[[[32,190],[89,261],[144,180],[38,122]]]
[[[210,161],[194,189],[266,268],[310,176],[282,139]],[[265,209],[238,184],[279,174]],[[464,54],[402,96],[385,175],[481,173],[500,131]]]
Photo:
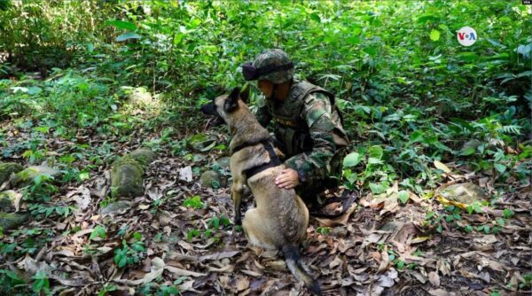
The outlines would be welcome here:
[[[262,52],[254,59],[253,66],[255,68],[264,68],[270,66],[285,66],[291,64],[292,61],[288,58],[285,51],[278,49],[268,50]],[[267,80],[273,83],[283,83],[291,80],[293,77],[293,66],[287,69],[271,72],[270,74],[260,75],[258,79]]]

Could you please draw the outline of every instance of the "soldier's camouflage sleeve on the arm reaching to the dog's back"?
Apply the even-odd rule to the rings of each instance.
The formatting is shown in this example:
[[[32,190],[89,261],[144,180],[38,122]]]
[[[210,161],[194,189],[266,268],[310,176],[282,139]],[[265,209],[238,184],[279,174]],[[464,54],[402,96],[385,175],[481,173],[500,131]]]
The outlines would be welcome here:
[[[324,95],[311,94],[305,99],[301,116],[309,125],[314,146],[311,151],[294,155],[285,163],[298,172],[300,183],[311,183],[330,175],[328,164],[336,151],[332,136],[334,124],[331,120],[331,102]]]

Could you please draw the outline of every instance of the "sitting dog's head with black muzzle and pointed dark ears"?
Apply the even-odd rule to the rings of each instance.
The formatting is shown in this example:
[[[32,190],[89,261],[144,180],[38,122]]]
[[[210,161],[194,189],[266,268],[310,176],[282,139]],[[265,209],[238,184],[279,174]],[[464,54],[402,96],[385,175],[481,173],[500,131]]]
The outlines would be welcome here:
[[[216,116],[225,123],[229,122],[231,113],[239,109],[239,100],[246,103],[249,97],[247,90],[240,91],[240,88],[234,88],[229,95],[215,97],[211,103],[201,106],[201,112],[207,115]]]

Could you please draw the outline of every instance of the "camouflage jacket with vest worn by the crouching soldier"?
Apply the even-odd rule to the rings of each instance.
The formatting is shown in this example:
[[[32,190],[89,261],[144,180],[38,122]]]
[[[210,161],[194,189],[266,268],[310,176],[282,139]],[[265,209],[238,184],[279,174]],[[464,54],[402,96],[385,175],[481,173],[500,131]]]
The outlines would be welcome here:
[[[348,145],[348,137],[331,93],[294,82],[285,101],[267,99],[256,116],[264,127],[275,120],[274,134],[286,153],[285,164],[298,172],[301,183],[338,173],[331,171],[331,160]]]

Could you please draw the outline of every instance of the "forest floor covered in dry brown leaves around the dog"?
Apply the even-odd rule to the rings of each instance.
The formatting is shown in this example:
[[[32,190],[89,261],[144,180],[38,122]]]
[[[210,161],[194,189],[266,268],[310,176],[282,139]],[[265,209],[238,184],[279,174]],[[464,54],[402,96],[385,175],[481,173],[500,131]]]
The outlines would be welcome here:
[[[28,129],[9,121],[0,129],[7,146],[30,137]],[[206,133],[225,143],[223,134]],[[48,154],[58,156],[79,144],[86,144],[86,152],[112,146],[126,153],[140,147],[140,139],[161,136],[135,130],[125,141],[82,129],[77,135],[72,142],[47,134],[43,143]],[[212,166],[223,152],[193,152],[182,158],[172,149],[160,145],[157,160],[145,172],[145,194],[111,214],[101,211],[113,201],[106,195],[109,165],[93,166],[81,185],[59,185],[51,198],[75,206],[72,214],[31,219],[18,230],[5,231],[2,242],[16,243],[19,256],[0,255],[2,269],[26,279],[44,270],[52,294],[61,295],[170,295],[176,290],[183,295],[309,294],[278,253],[249,247],[244,233],[233,226],[228,171],[221,169],[219,189],[198,183],[197,167]],[[7,160],[26,162],[16,154]],[[87,160],[76,162],[78,167],[88,165]],[[443,187],[471,182],[490,192],[497,185],[489,175],[445,165],[454,173],[443,178]],[[192,181],[180,176],[184,167],[194,171]],[[529,294],[530,187],[516,182],[513,188],[502,202],[472,214],[446,211],[445,200],[435,195],[412,194],[403,204],[396,186],[384,197],[363,191],[348,214],[335,220],[311,218],[301,253],[325,295]],[[191,202],[195,196],[200,201]],[[252,205],[246,199],[245,207]],[[507,207],[511,214],[504,211]],[[25,210],[21,202],[20,211]],[[451,227],[453,219],[473,229],[467,233]],[[128,260],[124,268],[117,267],[117,253]]]

